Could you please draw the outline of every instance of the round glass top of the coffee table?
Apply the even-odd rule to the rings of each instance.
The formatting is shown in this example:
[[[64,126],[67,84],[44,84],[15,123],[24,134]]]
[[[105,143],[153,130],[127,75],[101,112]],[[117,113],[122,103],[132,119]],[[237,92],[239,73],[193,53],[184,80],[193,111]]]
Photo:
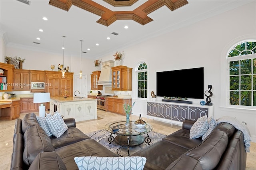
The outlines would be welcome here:
[[[137,127],[134,124],[135,121],[130,121],[129,124],[126,124],[126,121],[114,121],[108,123],[105,126],[105,129],[113,134],[118,134],[122,136],[136,136],[140,134],[145,134],[150,132],[153,127],[150,123],[146,123],[144,127]]]

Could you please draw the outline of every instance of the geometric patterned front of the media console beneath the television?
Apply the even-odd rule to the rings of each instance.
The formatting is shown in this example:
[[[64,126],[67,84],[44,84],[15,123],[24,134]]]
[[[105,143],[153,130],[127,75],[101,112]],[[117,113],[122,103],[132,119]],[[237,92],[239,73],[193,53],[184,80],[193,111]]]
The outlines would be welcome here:
[[[158,118],[160,121],[182,125],[185,119],[196,121],[204,115],[208,118],[213,116],[213,106],[147,102],[147,115]]]

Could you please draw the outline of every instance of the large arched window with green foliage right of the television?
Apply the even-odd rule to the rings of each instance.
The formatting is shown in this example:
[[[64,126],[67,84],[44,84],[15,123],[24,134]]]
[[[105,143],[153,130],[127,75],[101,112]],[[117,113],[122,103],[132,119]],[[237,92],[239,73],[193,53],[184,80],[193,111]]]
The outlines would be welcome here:
[[[245,41],[228,53],[229,105],[256,106],[256,42]]]

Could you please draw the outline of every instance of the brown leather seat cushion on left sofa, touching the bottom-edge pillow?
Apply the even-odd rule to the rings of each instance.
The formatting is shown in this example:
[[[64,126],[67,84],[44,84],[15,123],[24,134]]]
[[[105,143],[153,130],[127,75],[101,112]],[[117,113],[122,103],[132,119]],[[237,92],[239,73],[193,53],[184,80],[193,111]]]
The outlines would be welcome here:
[[[118,156],[91,138],[57,148],[55,151],[68,170],[78,170],[74,160],[76,156]]]

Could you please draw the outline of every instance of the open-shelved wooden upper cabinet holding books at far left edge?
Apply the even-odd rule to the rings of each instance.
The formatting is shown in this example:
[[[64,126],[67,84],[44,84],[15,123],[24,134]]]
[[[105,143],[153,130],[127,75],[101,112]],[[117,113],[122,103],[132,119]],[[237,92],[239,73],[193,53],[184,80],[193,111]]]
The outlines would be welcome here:
[[[0,74],[0,91],[12,91],[14,87],[14,65],[0,63],[0,69],[4,71]]]

